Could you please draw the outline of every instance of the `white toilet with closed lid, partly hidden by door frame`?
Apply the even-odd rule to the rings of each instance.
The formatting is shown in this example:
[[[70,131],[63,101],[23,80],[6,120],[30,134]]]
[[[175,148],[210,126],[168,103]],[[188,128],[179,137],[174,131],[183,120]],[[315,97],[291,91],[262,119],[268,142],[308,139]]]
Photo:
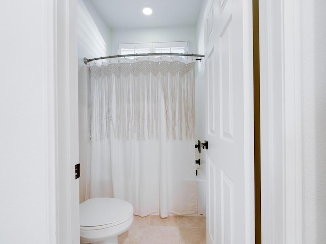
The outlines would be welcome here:
[[[133,221],[133,207],[116,198],[92,198],[80,204],[80,243],[118,244]]]

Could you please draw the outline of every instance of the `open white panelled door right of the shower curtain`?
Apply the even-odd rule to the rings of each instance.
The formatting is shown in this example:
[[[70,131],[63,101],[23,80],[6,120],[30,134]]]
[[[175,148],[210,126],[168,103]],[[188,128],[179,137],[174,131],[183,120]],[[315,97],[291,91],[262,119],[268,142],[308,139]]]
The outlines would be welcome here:
[[[219,49],[221,46],[225,46],[225,45],[229,45],[231,42],[230,39],[227,38],[235,38],[236,36],[225,36],[225,34],[230,33],[229,32],[229,26],[232,23],[235,23],[234,25],[232,25],[233,28],[243,28],[243,26],[246,26],[248,28],[250,28],[252,26],[251,23],[251,3],[249,3],[250,1],[244,1],[243,5],[240,1],[208,1],[208,10],[207,10],[207,26],[208,29],[211,28],[211,31],[213,30],[214,32],[210,33],[214,36],[215,40],[217,39],[217,41],[212,44],[207,43],[208,45],[206,45],[206,49],[207,52],[206,54],[206,60],[205,60],[205,65],[206,65],[206,69],[209,69],[210,65],[211,65],[211,69],[207,70],[207,74],[208,76],[211,75],[211,81],[213,81],[213,76],[216,75],[216,77],[219,74],[215,74],[214,72],[216,72],[216,70],[213,69],[213,63],[216,62],[216,64],[219,64],[217,67],[220,68],[221,65],[223,65],[221,63],[224,62],[227,65],[230,65],[230,60],[232,60],[233,62],[238,62],[239,60],[243,60],[243,58],[249,58],[250,54],[251,54],[251,50],[252,50],[252,41],[250,40],[251,36],[241,36],[240,35],[240,39],[236,38],[236,41],[240,41],[242,44],[240,45],[241,47],[243,46],[247,46],[248,49],[242,49],[242,50],[232,50],[233,52],[238,52],[241,53],[243,56],[240,59],[237,59],[239,56],[232,56],[231,58],[228,57],[226,54],[226,56],[223,56],[219,53]],[[242,13],[239,14],[238,9],[236,8],[232,8],[232,5],[235,6],[235,4],[239,4],[237,6],[242,6],[242,8],[240,8],[242,10]],[[215,7],[213,7],[215,6]],[[212,10],[213,7],[213,11]],[[219,12],[220,11],[220,12]],[[234,14],[232,11],[235,11]],[[240,11],[241,12],[241,11]],[[211,15],[210,15],[211,13]],[[244,13],[244,14],[243,14]],[[239,14],[239,15],[237,15]],[[243,14],[243,15],[242,15]],[[232,15],[232,18],[230,18],[230,16]],[[239,20],[236,16],[240,16],[239,18],[241,20]],[[216,21],[216,19],[221,20],[221,22],[214,26],[214,20]],[[211,21],[211,22],[209,22]],[[238,21],[238,22],[237,22]],[[244,21],[244,22],[241,22]],[[239,24],[239,23],[242,23]],[[209,26],[209,24],[212,24],[211,26]],[[219,26],[220,25],[220,26]],[[239,27],[241,25],[241,27]],[[235,27],[238,26],[238,27]],[[242,30],[243,31],[243,30]],[[250,31],[247,29],[247,31]],[[243,32],[238,32],[239,33],[243,33]],[[207,34],[207,33],[206,33]],[[210,35],[208,34],[208,35]],[[229,34],[228,34],[229,35]],[[250,45],[251,44],[251,45]],[[230,46],[235,45],[238,46],[236,44],[231,44]],[[243,46],[242,46],[243,45]],[[212,52],[214,50],[214,52]],[[230,50],[230,49],[229,49]],[[221,50],[220,50],[221,51]],[[229,53],[230,55],[230,53]],[[214,57],[214,58],[213,58]],[[250,59],[250,58],[249,58]],[[221,99],[218,101],[216,100],[216,107],[212,108],[212,110],[208,110],[207,114],[209,114],[209,112],[215,113],[215,115],[211,114],[212,116],[209,117],[208,121],[214,121],[213,119],[210,120],[211,118],[215,119],[215,122],[217,123],[217,120],[219,120],[219,114],[222,112],[224,112],[224,118],[226,120],[220,120],[219,123],[220,124],[216,124],[215,128],[209,129],[210,132],[207,134],[207,140],[210,143],[210,148],[209,151],[207,151],[207,159],[206,159],[206,163],[207,163],[207,179],[210,177],[211,175],[211,180],[208,179],[208,181],[210,181],[210,185],[208,185],[210,188],[208,188],[208,190],[212,191],[211,196],[209,196],[208,198],[208,207],[207,210],[210,211],[210,213],[208,214],[208,228],[209,229],[209,233],[207,234],[209,237],[211,238],[211,243],[214,243],[218,240],[218,238],[223,238],[225,241],[230,240],[230,243],[232,243],[232,241],[234,243],[240,243],[238,242],[235,237],[234,233],[236,232],[236,228],[239,228],[239,230],[243,233],[243,235],[241,235],[247,243],[253,243],[254,240],[254,231],[253,231],[253,218],[254,218],[254,206],[253,206],[253,168],[251,168],[251,160],[253,158],[253,155],[251,155],[252,152],[252,148],[251,145],[253,143],[252,138],[251,138],[251,133],[252,133],[252,127],[251,127],[251,119],[252,119],[252,111],[250,111],[250,102],[251,102],[251,97],[252,96],[252,91],[248,88],[250,86],[250,79],[251,74],[250,74],[250,64],[252,64],[252,62],[248,62],[248,63],[243,63],[242,66],[241,64],[235,63],[236,65],[240,65],[238,67],[242,67],[243,69],[243,77],[242,80],[247,81],[244,82],[244,84],[248,85],[246,87],[242,87],[242,93],[239,92],[238,90],[236,90],[237,86],[235,86],[236,83],[232,84],[232,86],[224,86],[225,84],[219,85],[219,86],[215,86],[216,88],[216,94],[220,94],[221,95],[221,88],[225,91],[227,90],[226,93],[222,92],[222,101]],[[237,66],[235,66],[237,67]],[[237,67],[237,68],[238,68]],[[231,67],[232,68],[232,67]],[[211,73],[209,73],[211,71]],[[238,73],[234,74],[235,77],[237,77]],[[222,74],[223,76],[223,74]],[[229,77],[227,77],[229,76]],[[227,74],[226,77],[224,77],[225,79],[229,79],[230,78],[230,73]],[[233,77],[234,78],[234,77]],[[238,77],[239,78],[239,77]],[[215,83],[216,84],[216,83]],[[210,84],[211,86],[207,86],[207,87],[212,87],[213,83],[211,82]],[[220,90],[219,90],[220,89]],[[229,90],[228,90],[229,89]],[[232,91],[232,89],[234,89]],[[210,90],[209,90],[210,91]],[[208,92],[209,92],[208,91]],[[236,106],[236,104],[241,104],[239,101],[235,101],[234,103],[231,103],[230,101],[233,102],[232,99],[234,99],[234,97],[237,95],[237,92],[239,92],[239,94],[242,94],[242,98],[241,96],[236,97],[237,99],[239,99],[239,101],[242,101],[242,105],[243,107],[247,107],[248,109],[248,113],[244,112],[244,111],[240,111],[239,113],[242,113],[242,121],[244,121],[244,124],[247,123],[247,126],[249,128],[249,131],[244,130],[241,131],[239,130],[239,132],[242,133],[242,140],[241,141],[241,146],[242,146],[242,156],[240,157],[241,159],[246,159],[242,162],[244,162],[244,166],[242,165],[242,170],[239,170],[240,168],[238,168],[237,166],[233,166],[233,168],[231,168],[231,171],[228,171],[228,168],[230,167],[231,164],[225,164],[222,168],[221,165],[219,165],[220,163],[216,163],[219,162],[220,160],[216,161],[216,159],[219,159],[219,157],[226,157],[226,156],[222,156],[223,153],[228,152],[227,150],[231,150],[230,148],[226,148],[225,151],[222,150],[221,148],[223,148],[223,145],[221,145],[222,147],[217,150],[214,150],[214,147],[218,144],[218,141],[220,141],[220,143],[225,143],[225,145],[227,144],[232,144],[230,143],[230,141],[234,140],[233,135],[235,135],[236,132],[236,127],[235,124],[236,123],[240,123],[240,120],[237,119],[237,117],[232,117],[230,116],[231,114],[231,110],[230,108],[232,108],[232,106]],[[243,95],[245,94],[245,95]],[[208,93],[209,95],[209,93]],[[212,94],[211,94],[212,95]],[[232,97],[233,96],[233,97]],[[209,99],[213,99],[212,96]],[[216,98],[215,98],[216,99]],[[241,100],[242,99],[242,100]],[[220,103],[219,103],[220,102]],[[221,103],[222,102],[222,103]],[[212,103],[210,103],[212,104]],[[222,110],[221,110],[222,108]],[[237,106],[234,109],[238,109],[239,107]],[[211,109],[211,106],[208,106],[208,109]],[[227,109],[229,109],[229,111],[227,112]],[[246,108],[244,108],[246,109]],[[215,116],[215,117],[214,117]],[[207,116],[208,117],[208,116]],[[222,123],[221,123],[222,122]],[[232,124],[233,123],[233,124]],[[232,128],[233,126],[233,128]],[[208,126],[208,128],[210,128]],[[222,128],[222,129],[221,129]],[[233,131],[232,131],[233,130]],[[214,133],[212,133],[212,131],[215,132],[215,135],[213,135]],[[222,136],[221,136],[221,132],[222,132]],[[220,133],[220,134],[218,134]],[[232,134],[233,133],[233,134]],[[209,138],[209,139],[208,139]],[[216,139],[216,140],[215,140]],[[247,142],[249,143],[244,143],[245,140],[248,140]],[[215,141],[215,143],[214,143]],[[235,145],[235,144],[234,144]],[[236,147],[236,149],[240,148]],[[217,147],[215,147],[217,148]],[[219,151],[220,150],[220,151]],[[241,151],[241,150],[240,150]],[[219,154],[214,155],[216,152],[219,152]],[[244,153],[246,152],[246,153]],[[249,153],[248,153],[249,152]],[[252,152],[252,153],[251,153]],[[230,153],[230,151],[229,151]],[[239,155],[236,155],[239,156]],[[226,159],[226,158],[225,158]],[[227,162],[226,160],[221,159],[221,162]],[[239,160],[234,159],[233,161],[236,162],[240,162]],[[216,168],[217,167],[217,168]],[[236,172],[236,174],[233,176],[232,175],[232,171]],[[241,176],[237,175],[237,173],[239,173],[238,171],[241,171],[240,174],[242,173],[243,178],[241,178]],[[216,173],[217,172],[217,173]],[[246,175],[244,175],[243,173],[246,173]],[[242,181],[241,181],[242,180]],[[239,182],[243,182],[243,192],[242,193],[246,193],[247,195],[242,196],[241,200],[236,200],[236,197],[239,197],[241,194],[238,194],[237,190],[236,190],[236,185],[239,184]],[[224,185],[221,185],[221,182]],[[222,187],[223,186],[223,187]],[[213,187],[213,188],[212,188]],[[246,190],[247,189],[247,190]],[[222,191],[223,190],[223,191]],[[208,191],[209,192],[209,191]],[[217,195],[216,195],[217,194]],[[222,195],[221,195],[222,194]],[[233,194],[233,195],[232,195]],[[221,196],[223,196],[223,198],[221,198]],[[217,198],[216,198],[217,197]],[[222,200],[221,200],[222,199]],[[223,203],[223,206],[222,206]],[[239,204],[237,207],[235,206],[235,203]],[[240,206],[240,203],[242,204]],[[233,205],[232,205],[233,204]],[[226,216],[224,211],[221,211],[221,209],[224,209],[226,206],[229,206],[228,208],[228,212]],[[240,211],[242,210],[242,212]],[[214,213],[213,213],[214,211]],[[241,226],[236,226],[236,221],[234,221],[235,219],[232,220],[233,217],[236,216],[236,212],[239,212],[240,215],[242,213],[242,218],[240,222],[244,222],[247,224],[247,227],[241,227]],[[219,214],[219,216],[216,216],[216,214]],[[214,216],[212,218],[212,216]],[[222,218],[223,217],[223,218]],[[222,220],[223,219],[223,225],[222,226]],[[219,225],[217,224],[218,221],[220,222],[220,228],[217,228]],[[217,228],[217,229],[216,229]],[[248,228],[248,229],[246,229]],[[227,243],[227,242],[226,242]]]

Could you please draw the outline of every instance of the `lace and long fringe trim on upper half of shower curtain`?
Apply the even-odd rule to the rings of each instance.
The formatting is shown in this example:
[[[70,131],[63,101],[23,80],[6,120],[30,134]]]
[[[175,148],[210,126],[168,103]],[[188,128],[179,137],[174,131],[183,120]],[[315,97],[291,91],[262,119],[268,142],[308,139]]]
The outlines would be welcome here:
[[[159,96],[167,139],[194,138],[195,62],[156,58],[93,65],[89,89],[91,139],[156,139]]]

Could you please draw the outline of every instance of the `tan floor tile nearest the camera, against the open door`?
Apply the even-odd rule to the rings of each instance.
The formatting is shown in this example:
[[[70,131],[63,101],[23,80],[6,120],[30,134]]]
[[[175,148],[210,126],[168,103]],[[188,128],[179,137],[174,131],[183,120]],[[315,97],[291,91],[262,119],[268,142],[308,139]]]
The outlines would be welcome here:
[[[179,227],[180,244],[206,244],[206,228]]]

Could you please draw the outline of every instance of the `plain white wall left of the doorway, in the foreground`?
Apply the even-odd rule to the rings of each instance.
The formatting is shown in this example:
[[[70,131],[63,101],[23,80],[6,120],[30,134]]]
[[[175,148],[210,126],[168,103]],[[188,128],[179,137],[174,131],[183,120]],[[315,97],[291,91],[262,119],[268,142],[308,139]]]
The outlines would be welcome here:
[[[48,2],[50,4],[50,1]],[[50,243],[46,8],[0,2],[0,239]],[[54,174],[53,174],[54,175]],[[53,216],[52,216],[53,217]]]

